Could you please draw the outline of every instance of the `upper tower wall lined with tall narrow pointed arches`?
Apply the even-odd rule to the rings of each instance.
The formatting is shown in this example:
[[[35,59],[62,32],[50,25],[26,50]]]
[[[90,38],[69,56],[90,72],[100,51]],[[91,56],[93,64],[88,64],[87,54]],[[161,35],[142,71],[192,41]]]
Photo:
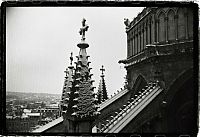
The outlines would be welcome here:
[[[127,58],[149,44],[166,44],[193,38],[191,8],[145,8],[127,29]]]

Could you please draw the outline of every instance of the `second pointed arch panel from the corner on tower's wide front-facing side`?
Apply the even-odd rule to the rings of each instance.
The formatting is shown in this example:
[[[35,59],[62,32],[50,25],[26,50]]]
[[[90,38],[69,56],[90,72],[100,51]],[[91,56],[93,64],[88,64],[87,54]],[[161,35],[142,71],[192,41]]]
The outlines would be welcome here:
[[[175,21],[174,21],[174,12],[170,10],[168,12],[168,40],[175,40]]]

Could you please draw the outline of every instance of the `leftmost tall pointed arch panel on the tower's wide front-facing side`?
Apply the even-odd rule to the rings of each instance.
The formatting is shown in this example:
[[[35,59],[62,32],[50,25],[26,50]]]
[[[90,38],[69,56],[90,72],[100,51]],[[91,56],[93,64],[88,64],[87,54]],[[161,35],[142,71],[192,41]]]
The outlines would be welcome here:
[[[161,12],[158,16],[159,19],[159,42],[165,41],[165,14]]]

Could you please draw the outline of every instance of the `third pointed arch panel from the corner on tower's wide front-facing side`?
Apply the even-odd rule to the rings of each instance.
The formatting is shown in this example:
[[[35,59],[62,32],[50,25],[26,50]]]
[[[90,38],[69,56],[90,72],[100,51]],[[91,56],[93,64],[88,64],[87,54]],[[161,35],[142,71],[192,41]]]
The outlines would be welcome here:
[[[185,37],[185,19],[184,19],[184,10],[180,8],[178,10],[178,38]]]

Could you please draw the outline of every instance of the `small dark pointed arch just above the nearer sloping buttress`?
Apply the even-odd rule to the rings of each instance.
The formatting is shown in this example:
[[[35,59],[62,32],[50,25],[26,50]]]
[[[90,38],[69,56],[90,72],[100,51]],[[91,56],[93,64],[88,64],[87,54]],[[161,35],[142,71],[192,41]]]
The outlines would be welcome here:
[[[135,83],[131,89],[131,98],[134,97],[139,91],[141,91],[147,85],[147,81],[142,75],[139,75],[135,80]]]

